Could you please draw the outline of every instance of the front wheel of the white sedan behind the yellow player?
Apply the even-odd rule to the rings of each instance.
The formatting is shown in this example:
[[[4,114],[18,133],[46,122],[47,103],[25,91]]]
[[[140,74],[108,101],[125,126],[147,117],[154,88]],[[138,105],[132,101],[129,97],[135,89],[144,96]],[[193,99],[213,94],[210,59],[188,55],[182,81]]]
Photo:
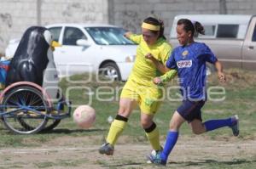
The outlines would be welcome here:
[[[99,74],[105,78],[113,79],[114,81],[121,80],[119,67],[113,62],[108,62],[107,64],[102,65]]]

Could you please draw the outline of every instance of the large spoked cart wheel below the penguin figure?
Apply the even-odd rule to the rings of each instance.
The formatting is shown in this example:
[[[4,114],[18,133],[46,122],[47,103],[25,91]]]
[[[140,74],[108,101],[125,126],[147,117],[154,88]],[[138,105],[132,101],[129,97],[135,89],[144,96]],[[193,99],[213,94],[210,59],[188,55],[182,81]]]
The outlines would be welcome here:
[[[3,124],[10,131],[31,134],[41,131],[46,125],[49,103],[35,87],[15,87],[3,98]],[[38,114],[43,113],[43,115]]]

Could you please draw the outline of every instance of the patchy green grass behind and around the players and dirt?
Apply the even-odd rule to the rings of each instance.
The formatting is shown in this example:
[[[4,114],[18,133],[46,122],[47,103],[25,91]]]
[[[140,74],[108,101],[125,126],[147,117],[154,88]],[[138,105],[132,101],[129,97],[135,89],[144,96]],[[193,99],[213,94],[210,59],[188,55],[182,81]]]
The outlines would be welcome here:
[[[86,75],[73,76],[73,79],[86,79]],[[247,139],[255,139],[256,137],[256,76],[254,72],[248,72],[243,70],[229,70],[227,72],[228,82],[225,84],[219,84],[216,75],[212,75],[209,78],[208,86],[217,86],[221,85],[225,89],[225,99],[224,101],[215,102],[208,100],[202,109],[203,120],[207,121],[209,119],[218,119],[229,117],[230,115],[239,115],[240,118],[240,127],[241,135],[239,139],[246,141]],[[229,81],[229,80],[232,81]],[[250,80],[248,80],[250,79]],[[63,93],[66,92],[67,87],[89,87],[91,92],[96,93],[98,87],[122,87],[124,82],[113,82],[110,84],[101,84],[97,83],[95,79],[89,83],[82,84],[72,84],[68,83],[65,80],[62,80],[60,83],[61,88],[63,88]],[[167,84],[168,86],[175,85],[175,82]],[[120,90],[117,90],[120,92]],[[116,97],[119,95],[119,92],[114,92],[113,94],[109,93],[109,90],[106,89],[108,94],[102,95],[102,99],[108,99],[111,97]],[[177,90],[173,90],[171,95],[178,93]],[[117,97],[119,98],[119,97]],[[70,99],[73,104],[86,104],[89,103],[90,96],[86,91],[76,90],[73,91],[70,95]],[[154,121],[156,121],[158,127],[160,128],[160,135],[165,137],[168,130],[168,124],[172,113],[177,109],[177,106],[180,104],[179,101],[170,102],[164,100],[160,110],[157,115],[155,115]],[[90,144],[101,144],[102,136],[108,133],[109,123],[107,121],[108,116],[116,115],[119,109],[119,101],[98,101],[96,100],[96,95],[91,96],[91,106],[96,110],[96,122],[94,127],[88,130],[79,129],[76,124],[73,122],[72,118],[67,118],[61,121],[61,124],[51,132],[38,133],[33,135],[15,135],[12,132],[3,127],[3,124],[0,127],[0,148],[3,147],[37,147],[44,143],[48,143],[54,138],[61,138],[62,136],[71,136],[71,137],[85,137],[85,136],[99,136],[99,139],[91,140]],[[182,135],[188,137],[194,137],[189,126],[184,124],[180,130]],[[127,137],[127,143],[147,143],[147,138],[144,136],[143,128],[140,126],[140,111],[139,109],[134,110],[131,117],[129,118],[129,123],[122,134]],[[208,132],[207,137],[212,139],[222,139],[230,138],[231,132],[229,128],[224,128],[221,130],[216,130],[214,132]],[[164,139],[164,138],[163,138]],[[71,143],[72,144],[72,143]],[[86,144],[86,143],[84,143]],[[68,145],[67,145],[68,146]],[[129,161],[129,160],[128,160]],[[132,162],[132,161],[131,161]],[[76,166],[83,161],[41,161],[35,164],[38,168],[47,168],[51,166]],[[85,161],[86,163],[86,161]],[[108,162],[103,160],[98,160],[96,163],[100,165],[105,165]],[[172,166],[172,164],[171,164]],[[201,162],[189,162],[185,161],[181,164],[178,164],[181,168],[185,166],[203,166],[203,168],[255,168],[256,167],[256,155],[248,159],[233,159],[233,161],[210,161],[202,160]],[[1,167],[0,167],[1,168]],[[114,168],[114,167],[113,167]],[[186,167],[188,168],[188,167]]]

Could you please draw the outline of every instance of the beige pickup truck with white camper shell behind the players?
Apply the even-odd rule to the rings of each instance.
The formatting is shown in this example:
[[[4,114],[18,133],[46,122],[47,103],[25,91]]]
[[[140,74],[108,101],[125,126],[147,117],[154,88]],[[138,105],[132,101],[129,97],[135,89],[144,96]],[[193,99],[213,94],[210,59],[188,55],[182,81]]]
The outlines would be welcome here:
[[[225,68],[256,70],[256,15],[177,15],[170,36],[173,47],[178,45],[176,26],[179,19],[199,21],[204,25],[206,35],[195,37],[195,41],[205,42]]]

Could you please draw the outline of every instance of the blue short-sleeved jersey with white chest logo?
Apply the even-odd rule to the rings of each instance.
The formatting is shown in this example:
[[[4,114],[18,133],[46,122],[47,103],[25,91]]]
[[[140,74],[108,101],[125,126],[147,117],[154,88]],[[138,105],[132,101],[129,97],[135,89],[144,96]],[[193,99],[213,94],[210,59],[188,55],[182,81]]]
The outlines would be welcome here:
[[[193,42],[174,48],[166,67],[177,70],[183,99],[207,99],[206,62],[214,64],[217,60],[205,43]]]

